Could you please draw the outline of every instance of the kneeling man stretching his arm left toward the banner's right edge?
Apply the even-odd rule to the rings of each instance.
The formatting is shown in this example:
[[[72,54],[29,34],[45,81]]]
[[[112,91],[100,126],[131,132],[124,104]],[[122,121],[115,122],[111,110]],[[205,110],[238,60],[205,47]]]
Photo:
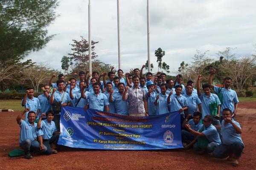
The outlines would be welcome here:
[[[199,152],[200,154],[206,153],[206,151],[211,153],[215,147],[221,144],[220,136],[216,127],[212,125],[212,120],[213,117],[211,115],[204,116],[203,125],[201,125],[198,131],[192,130],[190,125],[185,125],[190,133],[192,133],[194,136],[198,136],[198,142],[194,145],[194,147],[201,148],[201,152]]]

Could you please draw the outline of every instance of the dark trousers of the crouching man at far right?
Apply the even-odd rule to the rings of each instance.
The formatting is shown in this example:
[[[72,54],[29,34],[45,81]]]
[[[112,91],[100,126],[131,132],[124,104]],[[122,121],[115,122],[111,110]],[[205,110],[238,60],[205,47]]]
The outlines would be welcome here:
[[[242,142],[237,141],[230,145],[218,145],[212,154],[215,158],[226,158],[230,154],[234,154],[235,156],[240,157],[243,149],[244,144]]]

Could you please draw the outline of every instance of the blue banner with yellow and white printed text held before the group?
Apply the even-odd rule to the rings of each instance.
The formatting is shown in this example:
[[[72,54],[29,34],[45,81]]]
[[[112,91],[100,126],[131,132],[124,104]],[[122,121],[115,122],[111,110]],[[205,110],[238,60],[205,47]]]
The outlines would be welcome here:
[[[58,144],[108,150],[182,148],[180,114],[134,117],[66,106]]]

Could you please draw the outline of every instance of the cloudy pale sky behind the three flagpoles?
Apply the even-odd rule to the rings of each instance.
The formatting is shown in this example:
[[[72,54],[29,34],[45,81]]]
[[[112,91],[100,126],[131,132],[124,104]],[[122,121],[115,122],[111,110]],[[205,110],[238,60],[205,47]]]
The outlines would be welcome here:
[[[146,0],[119,0],[121,65],[141,68],[147,60]],[[255,54],[255,0],[149,0],[151,62],[157,71],[154,51],[162,48],[163,57],[175,72],[180,62],[192,61],[196,50],[207,51],[217,59],[226,47],[237,56]],[[47,62],[61,70],[61,57],[70,52],[72,40],[88,40],[88,0],[61,0],[60,15],[47,28],[55,37],[40,51],[26,59]],[[91,0],[91,37],[97,59],[118,68],[116,0]]]

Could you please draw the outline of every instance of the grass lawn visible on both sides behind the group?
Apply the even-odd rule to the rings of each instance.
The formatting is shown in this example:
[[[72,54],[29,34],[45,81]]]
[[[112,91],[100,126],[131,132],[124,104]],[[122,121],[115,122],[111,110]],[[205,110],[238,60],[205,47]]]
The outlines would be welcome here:
[[[256,97],[239,97],[239,102],[256,102]],[[21,100],[0,100],[0,109],[12,109],[14,111],[23,111]]]

